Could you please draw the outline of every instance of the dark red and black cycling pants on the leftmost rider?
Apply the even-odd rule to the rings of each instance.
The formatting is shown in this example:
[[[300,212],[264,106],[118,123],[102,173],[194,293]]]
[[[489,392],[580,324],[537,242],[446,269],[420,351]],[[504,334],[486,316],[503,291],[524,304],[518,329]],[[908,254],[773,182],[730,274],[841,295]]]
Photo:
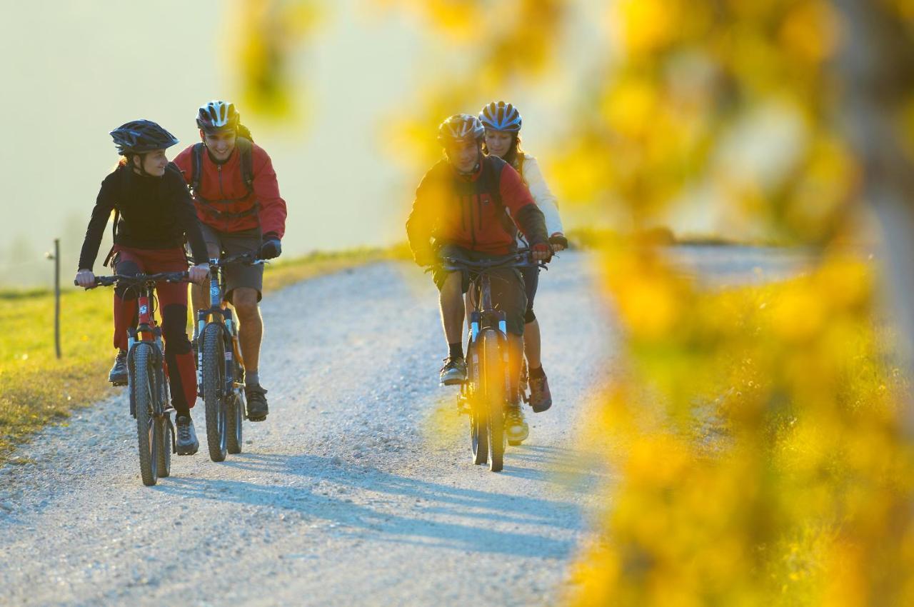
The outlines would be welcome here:
[[[154,274],[184,272],[187,259],[184,249],[133,249],[114,247],[114,272],[118,274]],[[157,282],[159,316],[165,339],[165,372],[171,388],[172,406],[178,415],[188,415],[197,402],[197,371],[190,341],[187,339],[187,283]],[[114,291],[114,347],[127,349],[127,329],[136,326],[137,293],[134,290]]]

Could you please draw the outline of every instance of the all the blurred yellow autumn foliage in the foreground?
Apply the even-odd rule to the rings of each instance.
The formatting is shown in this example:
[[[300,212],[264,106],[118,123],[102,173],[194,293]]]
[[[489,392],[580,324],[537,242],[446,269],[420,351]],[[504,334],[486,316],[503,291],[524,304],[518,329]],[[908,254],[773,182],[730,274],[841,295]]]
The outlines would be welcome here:
[[[445,117],[547,80],[569,12],[588,11],[619,53],[595,61],[562,125],[549,162],[560,198],[595,217],[621,206],[638,233],[707,192],[730,227],[759,228],[811,258],[788,282],[708,290],[654,243],[602,251],[624,357],[583,438],[612,438],[602,455],[622,480],[606,490],[566,602],[914,604],[909,385],[873,262],[846,246],[860,229],[863,167],[839,130],[847,24],[836,4],[376,1],[472,51],[467,69],[410,91],[415,106],[379,133],[412,170],[440,157]],[[276,5],[247,5],[244,69],[257,107],[282,110],[298,34]],[[911,0],[864,10],[891,11],[911,35]],[[898,123],[910,154],[909,98]]]

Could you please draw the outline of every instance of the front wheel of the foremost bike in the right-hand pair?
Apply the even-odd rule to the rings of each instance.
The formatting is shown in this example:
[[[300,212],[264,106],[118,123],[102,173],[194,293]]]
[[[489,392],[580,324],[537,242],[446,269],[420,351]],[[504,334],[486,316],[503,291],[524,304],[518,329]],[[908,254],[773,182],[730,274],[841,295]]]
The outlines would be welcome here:
[[[494,329],[483,331],[480,344],[480,409],[485,411],[489,434],[489,470],[501,472],[505,458],[505,366],[500,336]]]

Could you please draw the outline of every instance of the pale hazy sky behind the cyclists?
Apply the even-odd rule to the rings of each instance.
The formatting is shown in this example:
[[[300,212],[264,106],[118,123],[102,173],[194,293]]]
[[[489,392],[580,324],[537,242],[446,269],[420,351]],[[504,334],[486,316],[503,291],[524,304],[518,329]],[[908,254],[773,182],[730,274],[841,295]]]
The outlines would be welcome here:
[[[154,120],[181,140],[169,150],[174,157],[198,140],[201,103],[233,100],[230,45],[221,39],[228,17],[220,11],[234,3],[0,3],[0,284],[47,283],[50,264],[41,253],[55,237],[69,282],[99,185],[117,161],[108,132],[133,119]],[[239,106],[242,122],[271,154],[289,206],[283,254],[404,240],[420,172],[385,157],[378,122],[419,91],[442,60],[455,59],[417,17],[365,15],[366,0],[327,4],[322,27],[295,58],[309,91],[306,128],[285,132]],[[598,37],[590,31],[591,41]],[[579,32],[577,58],[587,56],[587,39],[588,31]],[[574,61],[570,71],[584,67]],[[568,73],[564,78],[541,91],[491,95],[522,109],[525,147],[540,157],[573,92]]]

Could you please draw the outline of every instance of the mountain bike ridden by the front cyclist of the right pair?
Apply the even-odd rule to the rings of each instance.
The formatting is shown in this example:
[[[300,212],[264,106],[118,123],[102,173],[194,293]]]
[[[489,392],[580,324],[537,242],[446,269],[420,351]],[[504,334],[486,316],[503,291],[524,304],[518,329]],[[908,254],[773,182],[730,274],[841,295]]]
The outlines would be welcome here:
[[[442,261],[448,272],[470,272],[472,291],[478,293],[471,297],[467,378],[461,384],[457,404],[470,415],[473,463],[488,462],[489,470],[500,472],[505,458],[505,408],[520,396],[512,393],[519,378],[511,377],[506,315],[492,304],[490,274],[504,268],[546,268],[546,264],[533,261],[528,249],[492,260],[446,257]]]

